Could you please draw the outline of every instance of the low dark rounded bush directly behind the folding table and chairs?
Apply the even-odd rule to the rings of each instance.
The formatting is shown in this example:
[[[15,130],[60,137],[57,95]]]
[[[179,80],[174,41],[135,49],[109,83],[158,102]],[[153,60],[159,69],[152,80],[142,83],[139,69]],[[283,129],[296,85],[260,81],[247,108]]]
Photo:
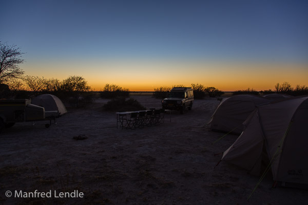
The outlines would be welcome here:
[[[104,105],[104,109],[115,112],[146,110],[136,99],[125,97],[111,99]]]

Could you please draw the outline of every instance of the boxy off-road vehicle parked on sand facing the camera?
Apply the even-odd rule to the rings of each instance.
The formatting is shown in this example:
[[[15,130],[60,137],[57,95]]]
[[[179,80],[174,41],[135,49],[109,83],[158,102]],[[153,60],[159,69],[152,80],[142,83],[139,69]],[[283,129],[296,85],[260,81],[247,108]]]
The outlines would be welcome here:
[[[191,110],[194,104],[194,92],[191,88],[175,87],[169,92],[168,97],[162,100],[162,106],[165,110],[180,110],[184,114],[184,110]]]

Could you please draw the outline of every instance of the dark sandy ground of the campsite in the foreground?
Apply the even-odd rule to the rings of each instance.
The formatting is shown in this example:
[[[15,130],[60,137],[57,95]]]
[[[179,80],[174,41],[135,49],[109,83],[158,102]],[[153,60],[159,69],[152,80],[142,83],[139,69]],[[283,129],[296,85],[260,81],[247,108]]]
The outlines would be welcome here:
[[[132,96],[146,108],[161,100]],[[20,123],[0,135],[0,204],[308,204],[308,190],[272,188],[259,177],[222,161],[236,140],[208,131],[219,104],[195,100],[191,111],[165,115],[159,126],[117,129],[116,115],[98,99],[88,108],[68,109],[57,125]],[[170,121],[171,118],[171,121]],[[84,140],[74,136],[85,135]],[[6,197],[6,191],[12,197]],[[83,198],[15,198],[23,192],[84,193]]]

